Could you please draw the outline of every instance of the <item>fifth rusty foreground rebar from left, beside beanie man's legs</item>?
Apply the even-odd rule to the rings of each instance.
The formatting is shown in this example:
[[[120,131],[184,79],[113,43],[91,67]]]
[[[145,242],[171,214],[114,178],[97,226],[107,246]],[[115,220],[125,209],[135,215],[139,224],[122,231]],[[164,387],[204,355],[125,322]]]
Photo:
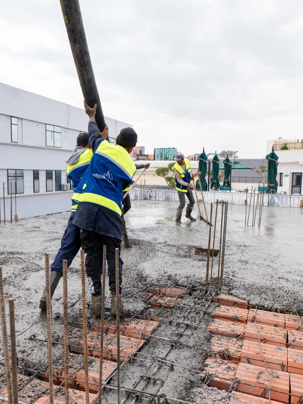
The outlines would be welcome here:
[[[82,288],[82,330],[83,330],[83,356],[84,356],[84,375],[85,375],[85,399],[86,404],[89,404],[88,390],[88,357],[87,357],[87,323],[86,323],[86,298],[85,298],[85,265],[84,251],[80,251],[81,262],[81,288]]]

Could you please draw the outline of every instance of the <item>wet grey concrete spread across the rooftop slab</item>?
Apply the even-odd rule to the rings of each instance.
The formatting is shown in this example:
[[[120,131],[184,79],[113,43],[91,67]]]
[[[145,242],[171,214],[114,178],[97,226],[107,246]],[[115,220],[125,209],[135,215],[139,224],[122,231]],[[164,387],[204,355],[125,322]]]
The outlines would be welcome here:
[[[206,257],[194,256],[191,250],[198,245],[207,247],[208,226],[201,221],[187,222],[184,217],[183,223],[176,225],[174,214],[177,205],[167,201],[135,201],[132,210],[126,216],[132,248],[122,250],[123,295],[124,305],[131,314],[145,307],[147,293],[144,290],[147,286],[165,287],[171,283],[188,285],[204,280]],[[51,259],[55,257],[68,216],[69,214],[57,214],[0,226],[0,265],[4,271],[6,297],[15,298],[17,334],[37,323],[17,339],[18,357],[21,363],[22,357],[25,357],[34,368],[47,363],[46,345],[28,340],[32,334],[41,339],[46,337],[45,315],[40,314],[38,310],[44,284],[43,254],[47,251]],[[244,218],[244,206],[229,206],[225,281],[232,285],[231,293],[249,300],[253,305],[301,312],[303,210],[264,207],[260,229],[257,226],[245,228]],[[218,232],[217,235],[219,236]],[[215,248],[219,247],[218,241]],[[216,264],[217,259],[215,259],[215,272]],[[69,309],[70,319],[78,318],[81,314],[79,268],[80,262],[77,256],[69,269],[69,301],[70,304],[74,304]],[[86,294],[89,307],[88,285]],[[108,287],[106,306],[110,306]],[[175,309],[171,313],[174,311]],[[154,313],[154,309],[144,310],[145,315]],[[53,299],[53,339],[59,340],[62,336],[62,314],[61,282]],[[89,316],[91,316],[90,310],[88,310]],[[162,329],[165,332],[165,328],[164,324],[157,330],[156,335],[162,332]],[[195,344],[205,347],[208,346],[208,341],[208,332],[203,330],[199,333]],[[142,352],[152,352],[155,344],[156,340],[151,338]],[[55,358],[62,352],[62,347],[57,345],[53,350]],[[196,352],[191,352],[188,348],[182,349],[180,355],[176,349],[174,355],[177,363],[182,361],[184,366],[203,369],[202,352],[196,355]],[[126,364],[122,368],[122,378],[128,379],[130,385],[131,378],[137,381],[137,373],[142,373],[145,367],[141,361]],[[172,395],[179,391],[179,395],[176,396],[191,398],[190,400],[194,397],[197,403],[202,403],[199,393],[191,390],[199,384],[198,377],[186,372],[180,370],[177,378],[172,377],[173,380],[170,380],[170,376],[161,392]],[[111,393],[107,394],[110,397]],[[219,395],[223,399],[222,392]]]

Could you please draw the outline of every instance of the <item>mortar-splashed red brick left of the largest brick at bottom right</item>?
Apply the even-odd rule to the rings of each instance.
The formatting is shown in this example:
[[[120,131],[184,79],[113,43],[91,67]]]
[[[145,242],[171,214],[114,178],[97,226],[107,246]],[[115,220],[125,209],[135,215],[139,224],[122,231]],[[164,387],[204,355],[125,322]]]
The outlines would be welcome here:
[[[229,390],[235,381],[238,364],[231,361],[218,361],[216,358],[207,358],[204,362],[204,371],[200,374],[203,379],[211,377],[208,383],[211,387],[220,390]]]

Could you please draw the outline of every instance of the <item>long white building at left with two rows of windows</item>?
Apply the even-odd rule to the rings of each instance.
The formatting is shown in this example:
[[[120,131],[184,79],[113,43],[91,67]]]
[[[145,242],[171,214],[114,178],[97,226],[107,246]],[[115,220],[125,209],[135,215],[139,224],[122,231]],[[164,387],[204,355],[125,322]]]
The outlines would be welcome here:
[[[112,142],[131,126],[105,120]],[[70,210],[65,161],[87,123],[80,108],[0,83],[1,220]]]

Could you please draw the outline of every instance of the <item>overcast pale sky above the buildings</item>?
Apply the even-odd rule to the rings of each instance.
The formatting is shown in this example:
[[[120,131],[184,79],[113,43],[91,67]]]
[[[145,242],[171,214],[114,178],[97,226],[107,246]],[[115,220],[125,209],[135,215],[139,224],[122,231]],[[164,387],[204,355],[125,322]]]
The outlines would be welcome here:
[[[0,4],[0,81],[82,107],[59,0]],[[104,113],[146,153],[258,158],[267,139],[303,138],[301,0],[80,5]]]

